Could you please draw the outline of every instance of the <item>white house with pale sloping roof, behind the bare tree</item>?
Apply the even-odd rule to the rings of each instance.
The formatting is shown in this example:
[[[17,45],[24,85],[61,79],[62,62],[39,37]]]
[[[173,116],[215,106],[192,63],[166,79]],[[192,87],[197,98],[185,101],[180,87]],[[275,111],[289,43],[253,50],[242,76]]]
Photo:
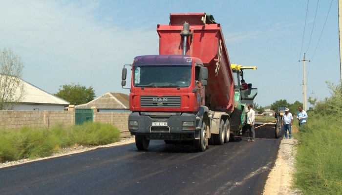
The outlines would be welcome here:
[[[20,78],[16,80],[17,84],[23,83],[24,95],[12,110],[63,111],[64,107],[69,105],[68,101],[49,94],[31,83]],[[19,93],[20,89],[17,88],[16,94]]]

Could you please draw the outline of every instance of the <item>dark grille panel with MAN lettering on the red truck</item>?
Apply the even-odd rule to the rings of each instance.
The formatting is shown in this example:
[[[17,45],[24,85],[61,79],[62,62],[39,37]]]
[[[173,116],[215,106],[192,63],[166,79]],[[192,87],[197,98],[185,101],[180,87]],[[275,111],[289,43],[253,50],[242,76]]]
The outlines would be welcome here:
[[[140,106],[145,108],[180,108],[180,96],[141,96]]]

